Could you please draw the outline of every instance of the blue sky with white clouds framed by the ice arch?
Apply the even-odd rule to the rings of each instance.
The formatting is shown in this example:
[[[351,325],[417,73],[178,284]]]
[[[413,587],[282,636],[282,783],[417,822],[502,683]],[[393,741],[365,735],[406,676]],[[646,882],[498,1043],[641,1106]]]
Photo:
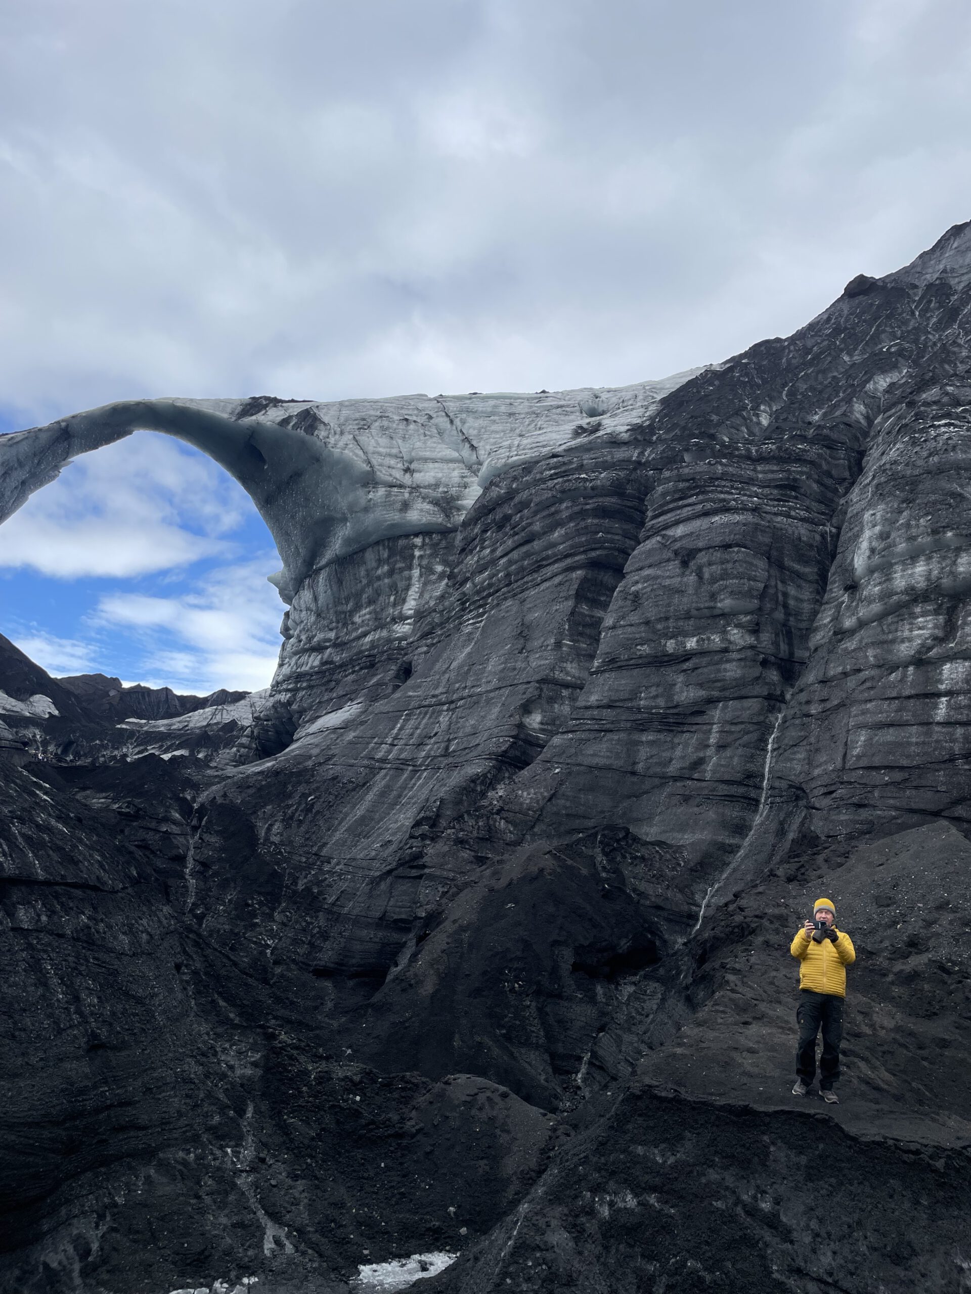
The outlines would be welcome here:
[[[0,430],[17,430],[0,413]],[[0,528],[0,633],[53,674],[179,691],[269,683],[273,540],[198,450],[136,432],[85,454]]]

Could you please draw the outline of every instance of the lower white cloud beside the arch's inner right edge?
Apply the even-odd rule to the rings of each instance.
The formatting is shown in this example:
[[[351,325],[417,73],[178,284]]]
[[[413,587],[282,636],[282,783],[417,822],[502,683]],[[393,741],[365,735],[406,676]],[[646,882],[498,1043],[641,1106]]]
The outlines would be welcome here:
[[[271,558],[214,571],[175,597],[114,593],[92,613],[96,629],[132,635],[141,646],[144,682],[206,694],[255,691],[273,677],[282,613],[267,582]]]

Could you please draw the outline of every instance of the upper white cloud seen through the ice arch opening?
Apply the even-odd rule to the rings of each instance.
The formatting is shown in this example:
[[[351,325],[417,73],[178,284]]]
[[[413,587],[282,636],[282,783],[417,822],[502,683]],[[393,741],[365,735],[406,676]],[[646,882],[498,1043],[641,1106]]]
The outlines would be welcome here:
[[[69,465],[0,528],[0,567],[133,577],[236,553],[251,505],[215,463],[140,433]]]

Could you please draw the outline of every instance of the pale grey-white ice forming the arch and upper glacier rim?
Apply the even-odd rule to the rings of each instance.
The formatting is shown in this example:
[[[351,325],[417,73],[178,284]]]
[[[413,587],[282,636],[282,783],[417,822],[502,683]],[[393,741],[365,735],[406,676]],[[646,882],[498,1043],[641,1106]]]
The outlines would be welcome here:
[[[513,463],[623,436],[687,382],[387,400],[129,400],[0,437],[0,521],[78,454],[132,431],[203,450],[250,494],[284,560],[285,600],[315,565],[382,538],[454,529]]]

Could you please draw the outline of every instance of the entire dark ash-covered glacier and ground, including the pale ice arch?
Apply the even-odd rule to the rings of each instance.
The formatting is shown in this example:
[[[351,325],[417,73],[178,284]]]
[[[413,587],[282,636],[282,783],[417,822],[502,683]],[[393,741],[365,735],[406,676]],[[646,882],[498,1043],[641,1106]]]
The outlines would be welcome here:
[[[0,437],[4,515],[192,440],[289,603],[250,697],[119,717],[0,652],[10,1288],[461,1250],[429,1291],[958,1294],[970,362],[961,225],[668,383]],[[858,950],[825,1110],[788,1095],[818,893]]]

